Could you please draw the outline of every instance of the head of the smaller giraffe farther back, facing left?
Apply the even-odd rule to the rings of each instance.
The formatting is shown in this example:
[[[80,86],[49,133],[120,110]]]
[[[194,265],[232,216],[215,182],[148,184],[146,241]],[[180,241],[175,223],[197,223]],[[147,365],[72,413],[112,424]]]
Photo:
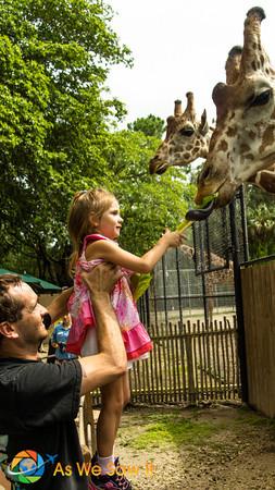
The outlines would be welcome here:
[[[167,128],[164,142],[155,156],[150,160],[150,173],[161,174],[168,167],[183,167],[199,157],[205,158],[209,149],[210,132],[207,112],[203,111],[200,121],[196,119],[193,94],[188,91],[186,110],[182,111],[180,100],[175,101],[174,115],[167,118]]]

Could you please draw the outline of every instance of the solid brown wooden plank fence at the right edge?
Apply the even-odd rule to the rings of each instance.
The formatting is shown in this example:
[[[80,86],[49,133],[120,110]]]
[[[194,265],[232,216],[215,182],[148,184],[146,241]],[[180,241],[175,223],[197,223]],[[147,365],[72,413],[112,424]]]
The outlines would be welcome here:
[[[275,417],[275,258],[241,269],[248,402]]]

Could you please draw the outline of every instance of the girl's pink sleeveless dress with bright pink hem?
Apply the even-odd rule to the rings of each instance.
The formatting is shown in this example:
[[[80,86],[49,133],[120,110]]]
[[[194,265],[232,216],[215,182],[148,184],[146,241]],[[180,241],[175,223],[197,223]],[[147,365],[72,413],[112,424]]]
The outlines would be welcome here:
[[[88,243],[97,240],[109,238],[99,234],[85,237],[82,256],[76,264],[74,292],[67,303],[67,308],[72,316],[72,327],[66,351],[84,356],[98,352],[96,320],[89,291],[80,277],[83,269],[89,271],[98,264],[104,261],[103,259],[86,260],[85,252]],[[122,270],[124,275],[115,284],[111,293],[111,302],[122,329],[127,358],[128,360],[137,360],[148,356],[148,353],[152,350],[152,342],[140,322],[137,306],[129,289],[127,277],[129,278],[133,272],[127,269]]]

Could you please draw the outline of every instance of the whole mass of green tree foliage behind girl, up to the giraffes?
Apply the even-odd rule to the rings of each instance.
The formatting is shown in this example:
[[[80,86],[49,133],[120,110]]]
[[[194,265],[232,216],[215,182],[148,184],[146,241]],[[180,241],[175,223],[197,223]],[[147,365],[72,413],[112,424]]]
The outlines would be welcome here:
[[[66,284],[76,191],[112,189],[122,246],[141,254],[183,219],[185,174],[150,176],[163,121],[110,132],[125,114],[108,98],[111,64],[132,64],[101,0],[0,0],[0,264]]]

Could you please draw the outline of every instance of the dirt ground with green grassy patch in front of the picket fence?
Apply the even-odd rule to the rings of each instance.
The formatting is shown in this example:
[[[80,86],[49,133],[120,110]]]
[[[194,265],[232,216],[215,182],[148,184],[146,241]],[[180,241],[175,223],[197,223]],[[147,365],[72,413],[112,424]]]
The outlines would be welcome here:
[[[129,409],[116,453],[134,490],[275,489],[275,421],[246,407]]]

